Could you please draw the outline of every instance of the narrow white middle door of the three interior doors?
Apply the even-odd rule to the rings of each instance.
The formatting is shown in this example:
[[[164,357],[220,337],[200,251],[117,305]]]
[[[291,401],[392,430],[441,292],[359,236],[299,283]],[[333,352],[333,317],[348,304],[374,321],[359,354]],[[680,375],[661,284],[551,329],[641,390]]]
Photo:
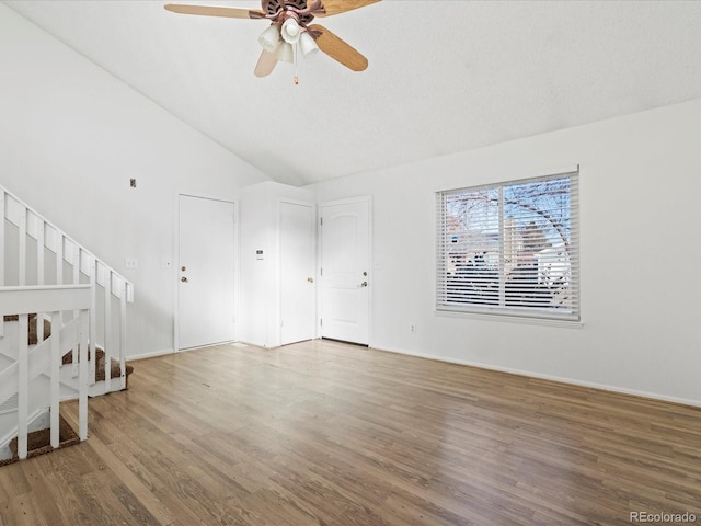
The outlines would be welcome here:
[[[280,343],[314,338],[314,207],[280,202]]]

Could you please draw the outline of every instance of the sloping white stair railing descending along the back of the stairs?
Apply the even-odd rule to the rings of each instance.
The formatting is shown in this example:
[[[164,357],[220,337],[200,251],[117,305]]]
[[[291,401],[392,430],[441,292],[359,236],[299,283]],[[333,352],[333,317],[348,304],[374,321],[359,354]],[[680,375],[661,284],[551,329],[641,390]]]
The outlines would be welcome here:
[[[16,254],[9,263],[0,258],[0,287],[92,285],[90,356],[95,356],[97,345],[104,348],[105,392],[125,389],[126,306],[134,301],[133,284],[2,186],[0,210],[4,217],[0,220],[0,249],[3,254]],[[55,260],[54,265],[48,261],[50,259]],[[62,320],[64,315],[60,316]],[[0,318],[0,338],[2,333],[3,320]],[[41,343],[42,330],[37,330],[37,338]],[[112,358],[119,362],[117,385],[112,381]],[[91,385],[95,384],[95,362],[90,361]],[[73,353],[76,374],[77,368],[78,356]]]

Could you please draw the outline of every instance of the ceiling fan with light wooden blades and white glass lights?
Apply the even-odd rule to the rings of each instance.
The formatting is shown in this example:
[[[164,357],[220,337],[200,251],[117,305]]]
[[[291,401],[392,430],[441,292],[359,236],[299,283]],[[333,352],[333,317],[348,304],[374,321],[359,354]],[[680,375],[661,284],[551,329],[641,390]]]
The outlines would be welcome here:
[[[223,5],[198,5],[168,3],[164,8],[174,13],[226,16],[230,19],[269,20],[271,25],[261,34],[258,43],[263,53],[255,66],[256,77],[273,72],[278,61],[295,60],[294,46],[304,57],[319,50],[353,71],[363,71],[368,60],[349,44],[327,28],[311,24],[314,16],[331,16],[364,8],[380,0],[261,0],[261,10],[229,8]],[[295,80],[297,82],[297,80]]]

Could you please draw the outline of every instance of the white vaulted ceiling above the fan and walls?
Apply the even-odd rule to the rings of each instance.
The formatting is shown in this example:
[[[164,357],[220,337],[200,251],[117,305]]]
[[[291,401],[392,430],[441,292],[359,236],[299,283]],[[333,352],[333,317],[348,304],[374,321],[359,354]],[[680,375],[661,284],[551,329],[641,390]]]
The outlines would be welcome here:
[[[319,54],[263,79],[265,21],[153,0],[3,3],[290,184],[701,96],[699,1],[383,0],[315,20],[368,58],[366,71]]]

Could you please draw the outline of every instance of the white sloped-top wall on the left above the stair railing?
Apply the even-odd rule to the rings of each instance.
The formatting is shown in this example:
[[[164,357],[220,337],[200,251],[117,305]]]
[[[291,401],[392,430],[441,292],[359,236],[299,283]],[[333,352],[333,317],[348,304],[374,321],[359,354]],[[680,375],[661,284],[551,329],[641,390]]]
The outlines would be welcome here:
[[[135,284],[130,355],[173,348],[177,194],[266,179],[0,4],[0,184]]]

